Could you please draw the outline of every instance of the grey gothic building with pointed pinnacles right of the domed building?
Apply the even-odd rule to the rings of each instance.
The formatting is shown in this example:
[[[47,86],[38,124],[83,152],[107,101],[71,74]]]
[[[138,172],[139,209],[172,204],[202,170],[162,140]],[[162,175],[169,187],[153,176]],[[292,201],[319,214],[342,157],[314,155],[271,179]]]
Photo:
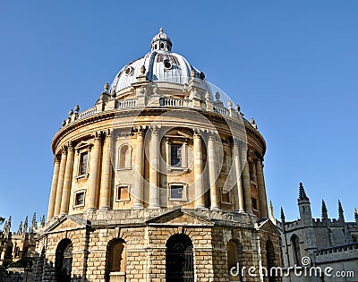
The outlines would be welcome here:
[[[355,222],[346,222],[342,204],[338,201],[338,218],[328,218],[328,209],[322,200],[321,218],[312,218],[311,203],[299,187],[298,208],[300,218],[286,221],[281,208],[281,221],[275,220],[281,234],[282,266],[284,269],[298,267],[317,267],[321,275],[298,276],[294,269],[284,281],[356,281],[358,269],[358,213],[355,209]],[[272,214],[272,212],[271,212]],[[332,268],[326,275],[324,269]],[[339,276],[337,276],[337,271]],[[343,272],[341,272],[343,271]],[[352,274],[354,271],[354,277]],[[342,274],[341,274],[342,273]]]

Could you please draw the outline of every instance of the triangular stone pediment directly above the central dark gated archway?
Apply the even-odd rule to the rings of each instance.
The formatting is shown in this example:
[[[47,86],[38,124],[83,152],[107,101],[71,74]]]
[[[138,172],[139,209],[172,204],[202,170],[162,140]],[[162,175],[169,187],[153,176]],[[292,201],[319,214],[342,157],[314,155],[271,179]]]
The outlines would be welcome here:
[[[168,224],[168,225],[193,225],[193,226],[213,226],[214,223],[209,218],[200,217],[190,211],[175,209],[156,218],[151,218],[147,224]]]

